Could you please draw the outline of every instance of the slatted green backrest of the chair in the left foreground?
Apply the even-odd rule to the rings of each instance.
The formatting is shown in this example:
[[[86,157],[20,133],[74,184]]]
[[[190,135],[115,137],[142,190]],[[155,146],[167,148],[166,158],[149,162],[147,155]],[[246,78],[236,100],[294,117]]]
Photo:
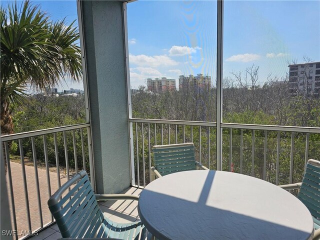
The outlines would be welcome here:
[[[65,194],[69,188],[70,191]],[[106,221],[85,171],[77,173],[64,183],[50,197],[48,206],[62,237],[95,236],[96,227]]]

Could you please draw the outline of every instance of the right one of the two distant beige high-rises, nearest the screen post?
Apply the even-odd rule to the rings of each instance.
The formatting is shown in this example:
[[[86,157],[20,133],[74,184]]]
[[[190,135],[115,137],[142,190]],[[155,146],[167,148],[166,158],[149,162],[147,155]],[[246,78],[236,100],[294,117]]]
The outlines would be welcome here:
[[[188,76],[179,75],[179,90],[187,87],[188,85],[195,85],[200,88],[211,86],[211,76],[197,74],[196,76],[190,74]]]

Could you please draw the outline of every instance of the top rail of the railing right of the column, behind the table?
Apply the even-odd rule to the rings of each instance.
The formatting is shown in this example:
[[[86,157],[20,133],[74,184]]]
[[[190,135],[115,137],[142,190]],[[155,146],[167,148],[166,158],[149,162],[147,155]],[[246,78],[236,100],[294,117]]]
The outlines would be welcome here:
[[[216,126],[216,122],[208,122],[208,121],[181,121],[181,120],[144,119],[144,118],[129,118],[129,122],[195,125],[195,126]],[[258,124],[242,124],[242,123],[221,123],[221,127],[269,130],[269,131],[293,131],[293,132],[306,132],[306,133],[320,133],[320,127],[306,127],[306,126],[278,126],[278,125],[258,125]]]

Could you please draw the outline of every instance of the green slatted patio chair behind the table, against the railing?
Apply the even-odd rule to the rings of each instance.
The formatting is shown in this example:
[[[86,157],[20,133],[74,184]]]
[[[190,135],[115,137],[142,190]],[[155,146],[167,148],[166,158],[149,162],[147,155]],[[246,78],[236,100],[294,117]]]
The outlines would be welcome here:
[[[151,180],[173,172],[203,169],[209,170],[195,160],[192,142],[155,145],[152,147],[154,166],[151,167]]]

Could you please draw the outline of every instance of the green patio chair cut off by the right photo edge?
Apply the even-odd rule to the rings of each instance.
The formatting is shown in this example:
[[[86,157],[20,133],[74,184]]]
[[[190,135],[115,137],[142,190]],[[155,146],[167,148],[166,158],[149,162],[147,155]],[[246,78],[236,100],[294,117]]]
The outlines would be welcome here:
[[[297,197],[309,209],[314,222],[313,239],[320,239],[320,161],[309,159],[302,182],[279,185],[283,189],[299,189]]]

